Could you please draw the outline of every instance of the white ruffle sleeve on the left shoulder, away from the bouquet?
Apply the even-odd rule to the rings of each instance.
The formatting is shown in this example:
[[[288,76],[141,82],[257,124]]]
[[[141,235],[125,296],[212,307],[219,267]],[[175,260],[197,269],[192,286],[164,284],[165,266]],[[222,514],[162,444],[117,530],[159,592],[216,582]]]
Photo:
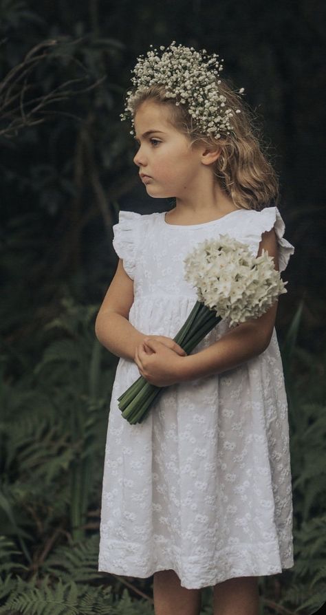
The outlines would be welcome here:
[[[120,211],[119,222],[113,226],[113,248],[123,261],[124,271],[133,280],[135,276],[136,250],[142,215],[133,211]]]

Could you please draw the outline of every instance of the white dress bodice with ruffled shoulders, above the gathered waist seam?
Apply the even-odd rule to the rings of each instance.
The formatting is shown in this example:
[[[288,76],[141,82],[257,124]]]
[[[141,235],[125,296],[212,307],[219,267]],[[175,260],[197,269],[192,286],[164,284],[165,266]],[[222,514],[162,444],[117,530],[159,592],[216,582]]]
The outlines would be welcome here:
[[[124,269],[134,281],[134,296],[196,298],[196,291],[184,279],[184,259],[205,239],[229,235],[248,244],[257,255],[262,234],[274,228],[279,242],[279,268],[285,269],[294,251],[284,238],[284,223],[276,207],[262,211],[239,209],[223,217],[189,226],[168,224],[165,213],[140,215],[120,211],[113,226],[113,246],[123,259]]]

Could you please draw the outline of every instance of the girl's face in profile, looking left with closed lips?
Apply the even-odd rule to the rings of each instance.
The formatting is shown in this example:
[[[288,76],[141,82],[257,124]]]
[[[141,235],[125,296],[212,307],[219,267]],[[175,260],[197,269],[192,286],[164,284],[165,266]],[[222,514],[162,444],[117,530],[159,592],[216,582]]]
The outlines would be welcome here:
[[[200,147],[192,147],[171,124],[168,105],[146,100],[135,114],[135,140],[140,147],[133,162],[151,197],[186,197],[202,176]],[[206,170],[207,171],[207,170]]]

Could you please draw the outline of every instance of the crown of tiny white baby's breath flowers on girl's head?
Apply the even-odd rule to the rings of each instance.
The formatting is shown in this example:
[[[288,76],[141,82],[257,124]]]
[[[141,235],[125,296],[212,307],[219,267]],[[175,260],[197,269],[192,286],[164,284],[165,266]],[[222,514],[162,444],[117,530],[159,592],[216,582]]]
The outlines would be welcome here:
[[[175,105],[187,105],[189,115],[202,132],[216,139],[221,133],[230,134],[232,109],[226,107],[226,97],[219,91],[223,70],[223,60],[217,54],[208,55],[206,50],[199,52],[193,47],[176,45],[160,47],[159,54],[153,45],[146,56],[139,56],[131,71],[134,89],[127,91],[122,120],[131,119],[133,125],[133,98],[151,85],[163,85],[166,98],[175,98]],[[239,94],[244,91],[239,89]],[[241,113],[235,109],[235,113]],[[131,134],[134,131],[131,130]]]

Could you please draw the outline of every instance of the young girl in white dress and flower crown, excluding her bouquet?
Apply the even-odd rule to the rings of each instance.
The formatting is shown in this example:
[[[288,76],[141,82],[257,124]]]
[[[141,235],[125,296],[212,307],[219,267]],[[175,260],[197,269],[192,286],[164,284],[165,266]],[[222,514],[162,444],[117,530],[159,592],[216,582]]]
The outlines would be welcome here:
[[[162,52],[162,53],[160,53]],[[96,335],[120,357],[105,457],[99,570],[154,575],[156,615],[256,615],[257,577],[293,565],[287,403],[274,332],[276,305],[229,329],[221,321],[186,356],[173,337],[197,299],[183,261],[228,234],[283,270],[277,184],[241,90],[220,79],[217,56],[172,43],[140,57],[127,93],[151,197],[164,213],[120,211],[120,257]],[[139,375],[162,391],[144,422],[118,397]]]

